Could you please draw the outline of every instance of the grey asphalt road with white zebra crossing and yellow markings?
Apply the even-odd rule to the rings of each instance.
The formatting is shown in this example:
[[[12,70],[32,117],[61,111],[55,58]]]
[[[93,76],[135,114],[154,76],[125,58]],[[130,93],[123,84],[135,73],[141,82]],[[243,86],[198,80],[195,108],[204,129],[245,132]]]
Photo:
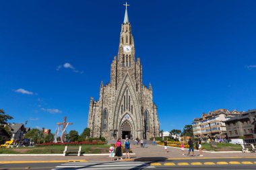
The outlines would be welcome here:
[[[256,159],[184,159],[165,161],[109,161],[71,163],[10,163],[0,169],[256,169]]]

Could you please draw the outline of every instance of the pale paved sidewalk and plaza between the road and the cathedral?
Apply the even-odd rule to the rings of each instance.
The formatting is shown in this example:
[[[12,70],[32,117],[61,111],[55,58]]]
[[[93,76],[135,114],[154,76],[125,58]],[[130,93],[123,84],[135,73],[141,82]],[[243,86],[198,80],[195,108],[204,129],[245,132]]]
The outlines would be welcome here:
[[[135,155],[131,156],[127,161],[146,161],[146,160],[167,160],[167,159],[220,159],[220,158],[255,158],[256,153],[203,153],[203,157],[199,157],[199,151],[195,151],[195,157],[183,156],[181,148],[168,147],[168,153],[164,151],[163,146],[153,146],[149,144],[146,148],[141,148],[140,145],[131,144],[131,149]],[[187,154],[187,150],[185,150]],[[125,157],[125,155],[123,155]],[[96,156],[0,156],[1,161],[110,161],[108,155]],[[0,161],[0,163],[1,163]],[[125,161],[125,159],[123,159]],[[3,163],[3,162],[2,162]]]

